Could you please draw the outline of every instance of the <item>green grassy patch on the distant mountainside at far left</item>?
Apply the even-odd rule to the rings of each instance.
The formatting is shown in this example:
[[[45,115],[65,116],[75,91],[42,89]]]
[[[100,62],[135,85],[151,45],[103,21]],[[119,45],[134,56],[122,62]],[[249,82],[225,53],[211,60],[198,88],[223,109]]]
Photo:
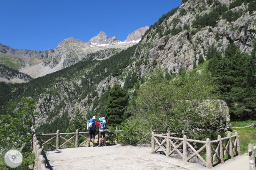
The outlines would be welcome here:
[[[25,65],[22,59],[5,54],[0,54],[0,64],[7,65],[15,70],[19,70],[21,65]]]

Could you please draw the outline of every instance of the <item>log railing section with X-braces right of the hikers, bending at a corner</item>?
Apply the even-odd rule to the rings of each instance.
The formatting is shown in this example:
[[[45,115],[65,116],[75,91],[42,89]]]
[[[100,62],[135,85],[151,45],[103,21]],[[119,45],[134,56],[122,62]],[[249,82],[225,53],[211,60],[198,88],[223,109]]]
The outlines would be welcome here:
[[[232,141],[234,139],[234,142]],[[224,143],[226,142],[226,143]],[[198,150],[193,147],[193,144],[199,143],[203,145]],[[216,149],[214,148],[216,146]],[[234,151],[236,155],[241,155],[239,136],[236,132],[235,135],[231,136],[228,133],[227,137],[218,139],[215,141],[210,141],[209,138],[206,141],[199,141],[194,139],[187,139],[186,135],[183,138],[172,137],[170,133],[167,135],[159,135],[152,132],[151,134],[151,149],[152,153],[155,153],[158,149],[163,150],[167,157],[170,157],[175,152],[178,153],[184,162],[188,162],[194,156],[197,156],[206,167],[213,167],[215,158],[218,159],[218,163],[224,163],[224,156],[227,154],[229,159],[234,159]],[[188,157],[188,149],[193,151],[193,154]],[[206,150],[206,160],[203,159],[202,154]],[[182,152],[182,153],[181,153]]]

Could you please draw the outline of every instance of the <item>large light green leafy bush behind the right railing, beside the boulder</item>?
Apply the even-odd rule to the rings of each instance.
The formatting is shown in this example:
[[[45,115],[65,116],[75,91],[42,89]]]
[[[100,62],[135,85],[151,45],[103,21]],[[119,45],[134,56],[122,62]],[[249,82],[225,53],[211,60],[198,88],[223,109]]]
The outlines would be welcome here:
[[[137,106],[128,109],[131,116],[122,126],[126,140],[132,142],[134,130],[161,134],[170,128],[171,132],[182,134],[184,130],[191,136],[193,129],[206,126],[211,116],[202,119],[197,106],[203,100],[216,98],[209,77],[193,71],[168,80],[163,72],[152,73],[140,87]]]

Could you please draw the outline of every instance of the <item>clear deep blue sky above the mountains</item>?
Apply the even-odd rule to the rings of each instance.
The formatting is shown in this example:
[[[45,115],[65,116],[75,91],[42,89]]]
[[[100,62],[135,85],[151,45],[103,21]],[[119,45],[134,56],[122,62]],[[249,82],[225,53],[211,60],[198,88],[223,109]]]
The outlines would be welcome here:
[[[69,37],[87,42],[100,31],[123,41],[180,5],[181,0],[5,0],[0,43],[45,51]]]

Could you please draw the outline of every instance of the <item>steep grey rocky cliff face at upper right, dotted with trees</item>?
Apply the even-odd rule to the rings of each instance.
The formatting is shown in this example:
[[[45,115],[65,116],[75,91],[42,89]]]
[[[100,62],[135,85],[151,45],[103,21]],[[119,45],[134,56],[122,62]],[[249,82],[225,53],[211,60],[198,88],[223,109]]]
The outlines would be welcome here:
[[[216,1],[227,8],[231,2]],[[215,26],[195,27],[193,24],[196,16],[209,14],[216,8],[215,2],[188,0],[183,3],[172,16],[151,27],[141,40],[137,51],[140,60],[148,60],[149,64],[141,65],[141,74],[151,67],[154,60],[161,70],[178,72],[181,67],[192,70],[194,62],[198,64],[200,55],[206,59],[208,47],[212,44],[222,54],[230,43],[236,44],[241,52],[250,54],[256,38],[256,11],[249,12],[248,6],[243,3],[227,11],[238,12],[236,20],[228,21],[219,16]]]

